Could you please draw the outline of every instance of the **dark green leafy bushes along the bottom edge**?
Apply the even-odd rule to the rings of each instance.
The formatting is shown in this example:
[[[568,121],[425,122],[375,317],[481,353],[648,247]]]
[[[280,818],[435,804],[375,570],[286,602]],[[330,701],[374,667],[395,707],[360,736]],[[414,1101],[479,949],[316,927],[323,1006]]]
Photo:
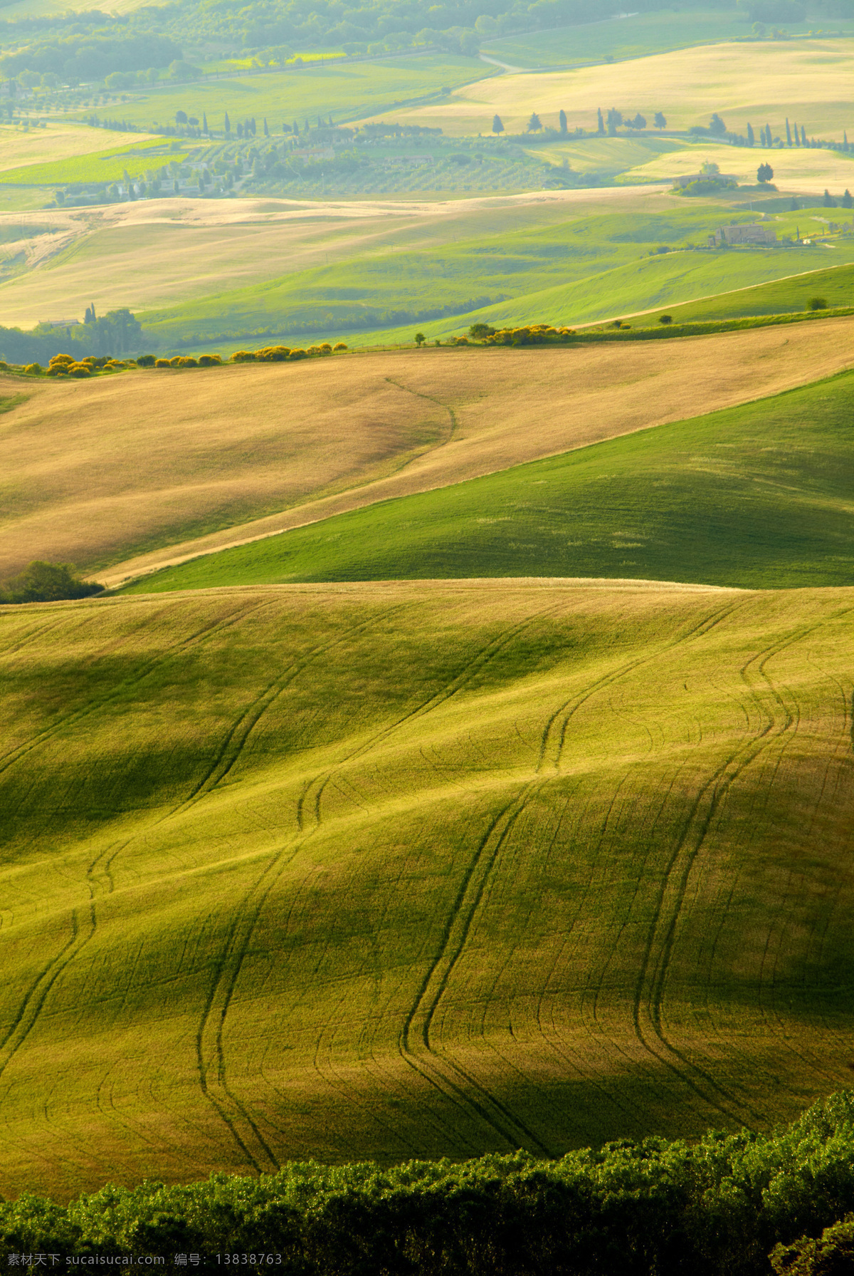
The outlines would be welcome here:
[[[168,1266],[192,1254],[196,1270],[222,1270],[217,1254],[280,1254],[291,1276],[770,1276],[771,1265],[820,1276],[851,1270],[854,1229],[834,1226],[851,1210],[846,1091],[775,1134],[709,1133],[693,1146],[291,1164],[259,1179],[106,1187],[68,1207],[22,1196],[0,1203],[0,1252],[158,1254]]]

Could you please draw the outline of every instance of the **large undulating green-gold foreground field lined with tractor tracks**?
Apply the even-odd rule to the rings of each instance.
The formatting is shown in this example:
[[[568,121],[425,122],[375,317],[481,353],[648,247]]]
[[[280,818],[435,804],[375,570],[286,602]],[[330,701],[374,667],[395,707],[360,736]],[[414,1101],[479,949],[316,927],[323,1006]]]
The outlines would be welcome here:
[[[560,581],[0,610],[0,1188],[837,1088],[853,625]]]

